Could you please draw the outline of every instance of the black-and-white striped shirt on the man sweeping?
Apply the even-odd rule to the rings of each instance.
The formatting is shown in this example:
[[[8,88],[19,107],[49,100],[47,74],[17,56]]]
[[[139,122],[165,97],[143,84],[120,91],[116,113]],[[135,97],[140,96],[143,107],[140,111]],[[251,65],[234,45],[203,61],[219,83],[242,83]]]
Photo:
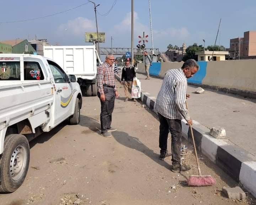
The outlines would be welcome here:
[[[187,78],[182,69],[166,72],[154,109],[168,119],[189,120],[186,108]]]

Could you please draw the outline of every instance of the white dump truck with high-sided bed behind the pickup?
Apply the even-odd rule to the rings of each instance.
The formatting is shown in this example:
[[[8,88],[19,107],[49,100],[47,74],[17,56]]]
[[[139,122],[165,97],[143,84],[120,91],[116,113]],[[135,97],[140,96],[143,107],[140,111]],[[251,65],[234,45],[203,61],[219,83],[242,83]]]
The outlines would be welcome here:
[[[95,45],[44,46],[44,56],[56,61],[69,75],[78,77],[83,96],[97,95],[97,60]]]

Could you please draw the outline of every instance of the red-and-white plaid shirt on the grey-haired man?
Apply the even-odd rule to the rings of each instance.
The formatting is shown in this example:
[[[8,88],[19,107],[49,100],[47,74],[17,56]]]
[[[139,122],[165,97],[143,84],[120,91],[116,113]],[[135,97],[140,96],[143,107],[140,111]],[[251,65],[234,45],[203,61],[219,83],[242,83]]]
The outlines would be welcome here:
[[[114,91],[117,91],[113,67],[106,62],[98,66],[97,71],[97,86],[101,95],[104,94],[103,85],[114,86]]]

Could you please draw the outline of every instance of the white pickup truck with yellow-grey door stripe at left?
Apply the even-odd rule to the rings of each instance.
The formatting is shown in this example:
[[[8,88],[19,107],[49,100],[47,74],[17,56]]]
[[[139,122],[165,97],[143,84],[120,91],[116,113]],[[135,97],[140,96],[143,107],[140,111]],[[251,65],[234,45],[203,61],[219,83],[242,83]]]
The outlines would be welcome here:
[[[0,54],[0,192],[23,183],[29,141],[69,119],[80,122],[82,93],[75,75],[39,55]]]

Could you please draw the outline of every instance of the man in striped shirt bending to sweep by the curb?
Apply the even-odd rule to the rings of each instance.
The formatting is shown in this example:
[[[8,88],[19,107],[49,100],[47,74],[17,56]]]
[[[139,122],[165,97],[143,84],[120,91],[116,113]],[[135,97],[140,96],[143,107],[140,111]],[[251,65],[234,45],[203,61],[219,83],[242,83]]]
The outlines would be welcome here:
[[[190,167],[181,165],[181,120],[186,119],[188,125],[192,125],[192,119],[186,108],[187,79],[192,77],[199,69],[194,59],[187,60],[181,68],[171,69],[166,72],[162,86],[156,98],[154,109],[158,112],[159,127],[159,147],[160,160],[167,156],[167,138],[171,133],[171,153],[173,172],[186,172]]]

